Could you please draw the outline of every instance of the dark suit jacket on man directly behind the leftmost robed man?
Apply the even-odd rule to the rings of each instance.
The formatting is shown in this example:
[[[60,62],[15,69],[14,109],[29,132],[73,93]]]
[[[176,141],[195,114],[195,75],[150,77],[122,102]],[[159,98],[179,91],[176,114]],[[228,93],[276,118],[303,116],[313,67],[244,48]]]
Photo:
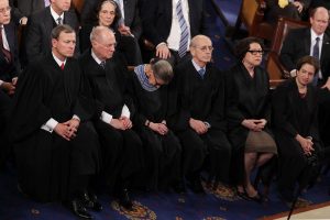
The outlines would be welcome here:
[[[70,25],[76,31],[76,54],[79,53],[79,22],[74,11],[64,12],[64,24]],[[38,58],[51,52],[51,33],[55,26],[50,7],[31,15],[26,26],[26,55],[28,61]]]

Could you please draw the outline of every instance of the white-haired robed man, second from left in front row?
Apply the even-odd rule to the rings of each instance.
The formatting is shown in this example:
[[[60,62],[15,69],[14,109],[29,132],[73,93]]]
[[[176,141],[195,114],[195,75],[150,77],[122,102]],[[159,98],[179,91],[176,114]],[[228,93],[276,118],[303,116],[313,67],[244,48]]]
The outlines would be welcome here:
[[[95,28],[91,45],[91,50],[81,55],[80,65],[97,103],[95,125],[102,145],[103,175],[110,193],[116,193],[120,204],[131,209],[128,187],[142,168],[143,148],[139,135],[131,130],[127,65],[120,57],[112,57],[116,38],[110,29]]]

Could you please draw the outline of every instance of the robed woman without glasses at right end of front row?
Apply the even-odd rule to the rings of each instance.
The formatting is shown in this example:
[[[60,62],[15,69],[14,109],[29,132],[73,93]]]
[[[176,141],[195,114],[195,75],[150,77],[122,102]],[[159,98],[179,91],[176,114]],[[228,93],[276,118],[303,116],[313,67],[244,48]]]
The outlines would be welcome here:
[[[273,95],[278,190],[287,201],[293,201],[296,183],[304,188],[316,178],[321,158],[317,88],[310,85],[319,69],[318,61],[305,56],[298,61],[297,69],[297,76],[278,86]]]

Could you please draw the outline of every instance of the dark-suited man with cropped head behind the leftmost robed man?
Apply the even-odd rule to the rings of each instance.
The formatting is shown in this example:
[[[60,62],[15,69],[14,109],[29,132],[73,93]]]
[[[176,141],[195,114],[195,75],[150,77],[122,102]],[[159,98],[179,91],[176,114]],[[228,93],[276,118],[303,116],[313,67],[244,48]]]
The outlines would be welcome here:
[[[38,58],[50,52],[52,29],[61,24],[70,25],[76,33],[79,31],[79,23],[74,11],[69,11],[72,0],[51,0],[51,6],[32,14],[28,22],[26,30],[26,56],[28,61]],[[77,38],[77,45],[78,38]],[[75,55],[77,55],[76,46]]]

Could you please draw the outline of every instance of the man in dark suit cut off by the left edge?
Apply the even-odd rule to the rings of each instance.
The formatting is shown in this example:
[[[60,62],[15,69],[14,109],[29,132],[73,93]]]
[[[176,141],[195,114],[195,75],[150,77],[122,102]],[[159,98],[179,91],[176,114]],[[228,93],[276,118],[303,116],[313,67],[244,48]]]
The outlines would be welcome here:
[[[18,59],[18,37],[16,26],[10,22],[11,13],[8,0],[0,0],[0,166],[8,154],[8,143],[6,143],[6,122],[9,117],[9,107],[15,90],[20,63]]]

